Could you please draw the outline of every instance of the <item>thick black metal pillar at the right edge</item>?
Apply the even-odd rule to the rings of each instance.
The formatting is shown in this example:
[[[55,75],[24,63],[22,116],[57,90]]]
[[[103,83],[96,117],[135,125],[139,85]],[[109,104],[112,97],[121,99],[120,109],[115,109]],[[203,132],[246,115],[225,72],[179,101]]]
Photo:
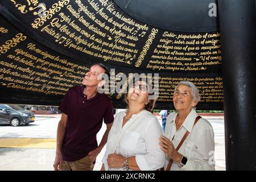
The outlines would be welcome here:
[[[255,0],[218,0],[227,170],[256,170]]]

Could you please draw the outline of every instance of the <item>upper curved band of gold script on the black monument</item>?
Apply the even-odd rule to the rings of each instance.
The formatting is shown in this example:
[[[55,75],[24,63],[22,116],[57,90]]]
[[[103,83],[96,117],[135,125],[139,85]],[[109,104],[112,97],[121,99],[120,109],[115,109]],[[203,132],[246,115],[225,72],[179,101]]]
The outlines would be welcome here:
[[[220,71],[218,32],[182,33],[151,27],[108,0],[1,3],[35,34],[79,55],[81,60],[86,56],[109,64],[163,72]]]

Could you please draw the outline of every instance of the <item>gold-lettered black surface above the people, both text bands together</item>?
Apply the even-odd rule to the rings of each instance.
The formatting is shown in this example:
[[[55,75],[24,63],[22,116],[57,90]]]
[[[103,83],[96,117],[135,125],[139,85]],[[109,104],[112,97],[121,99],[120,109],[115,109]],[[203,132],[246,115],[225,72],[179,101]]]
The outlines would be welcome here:
[[[10,102],[20,102],[20,94],[31,96],[28,103],[44,97],[40,104],[57,105],[69,88],[81,85],[92,63],[101,62],[115,68],[110,90],[122,74],[159,73],[158,109],[172,107],[172,93],[182,80],[199,88],[199,108],[223,107],[218,32],[151,27],[108,0],[0,2],[1,12],[8,7],[22,22],[0,16],[1,97]],[[125,107],[122,92],[109,96],[115,106]]]

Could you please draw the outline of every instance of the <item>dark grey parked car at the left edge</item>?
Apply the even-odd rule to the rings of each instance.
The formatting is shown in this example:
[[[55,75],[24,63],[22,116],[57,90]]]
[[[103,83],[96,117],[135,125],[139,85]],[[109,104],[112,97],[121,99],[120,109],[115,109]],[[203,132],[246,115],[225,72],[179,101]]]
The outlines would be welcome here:
[[[9,105],[0,105],[0,123],[11,126],[28,125],[35,122],[35,114],[28,110],[15,110]]]

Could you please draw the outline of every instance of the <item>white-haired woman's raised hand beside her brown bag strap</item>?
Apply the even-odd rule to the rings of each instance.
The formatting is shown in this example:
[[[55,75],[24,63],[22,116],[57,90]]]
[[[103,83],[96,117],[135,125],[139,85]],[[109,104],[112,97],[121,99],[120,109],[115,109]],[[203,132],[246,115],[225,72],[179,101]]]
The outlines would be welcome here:
[[[177,163],[180,163],[183,155],[175,150],[174,144],[164,136],[161,136],[159,141],[161,150],[164,151],[169,156],[169,158],[174,159]]]

